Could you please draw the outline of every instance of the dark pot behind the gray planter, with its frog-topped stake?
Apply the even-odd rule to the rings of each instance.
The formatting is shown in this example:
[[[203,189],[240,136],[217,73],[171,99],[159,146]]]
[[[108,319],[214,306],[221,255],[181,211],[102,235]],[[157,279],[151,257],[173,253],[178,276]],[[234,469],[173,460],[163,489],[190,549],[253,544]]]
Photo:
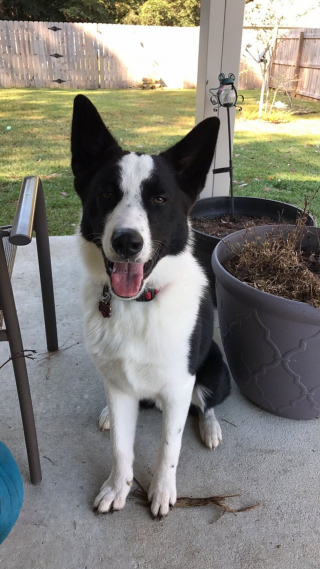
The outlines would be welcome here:
[[[234,197],[233,195],[233,165],[232,165],[232,145],[230,129],[230,108],[237,107],[238,93],[234,86],[235,76],[230,73],[225,77],[223,73],[219,75],[219,87],[210,89],[211,103],[214,110],[216,107],[224,107],[227,110],[228,119],[228,140],[229,140],[229,166],[216,168],[214,174],[229,172],[230,176],[230,196],[212,197],[200,199],[196,202],[191,212],[191,220],[194,231],[195,255],[206,269],[210,280],[212,294],[214,297],[215,279],[211,271],[211,255],[221,237],[230,234],[242,227],[249,225],[268,225],[273,223],[295,223],[301,216],[301,209],[296,206],[252,197]],[[244,101],[243,96],[242,102]],[[238,107],[241,110],[241,107]],[[311,215],[306,214],[306,225],[314,225]],[[222,221],[215,224],[215,228],[210,227],[210,220]],[[209,221],[207,221],[209,220]],[[213,229],[213,231],[212,231]]]

